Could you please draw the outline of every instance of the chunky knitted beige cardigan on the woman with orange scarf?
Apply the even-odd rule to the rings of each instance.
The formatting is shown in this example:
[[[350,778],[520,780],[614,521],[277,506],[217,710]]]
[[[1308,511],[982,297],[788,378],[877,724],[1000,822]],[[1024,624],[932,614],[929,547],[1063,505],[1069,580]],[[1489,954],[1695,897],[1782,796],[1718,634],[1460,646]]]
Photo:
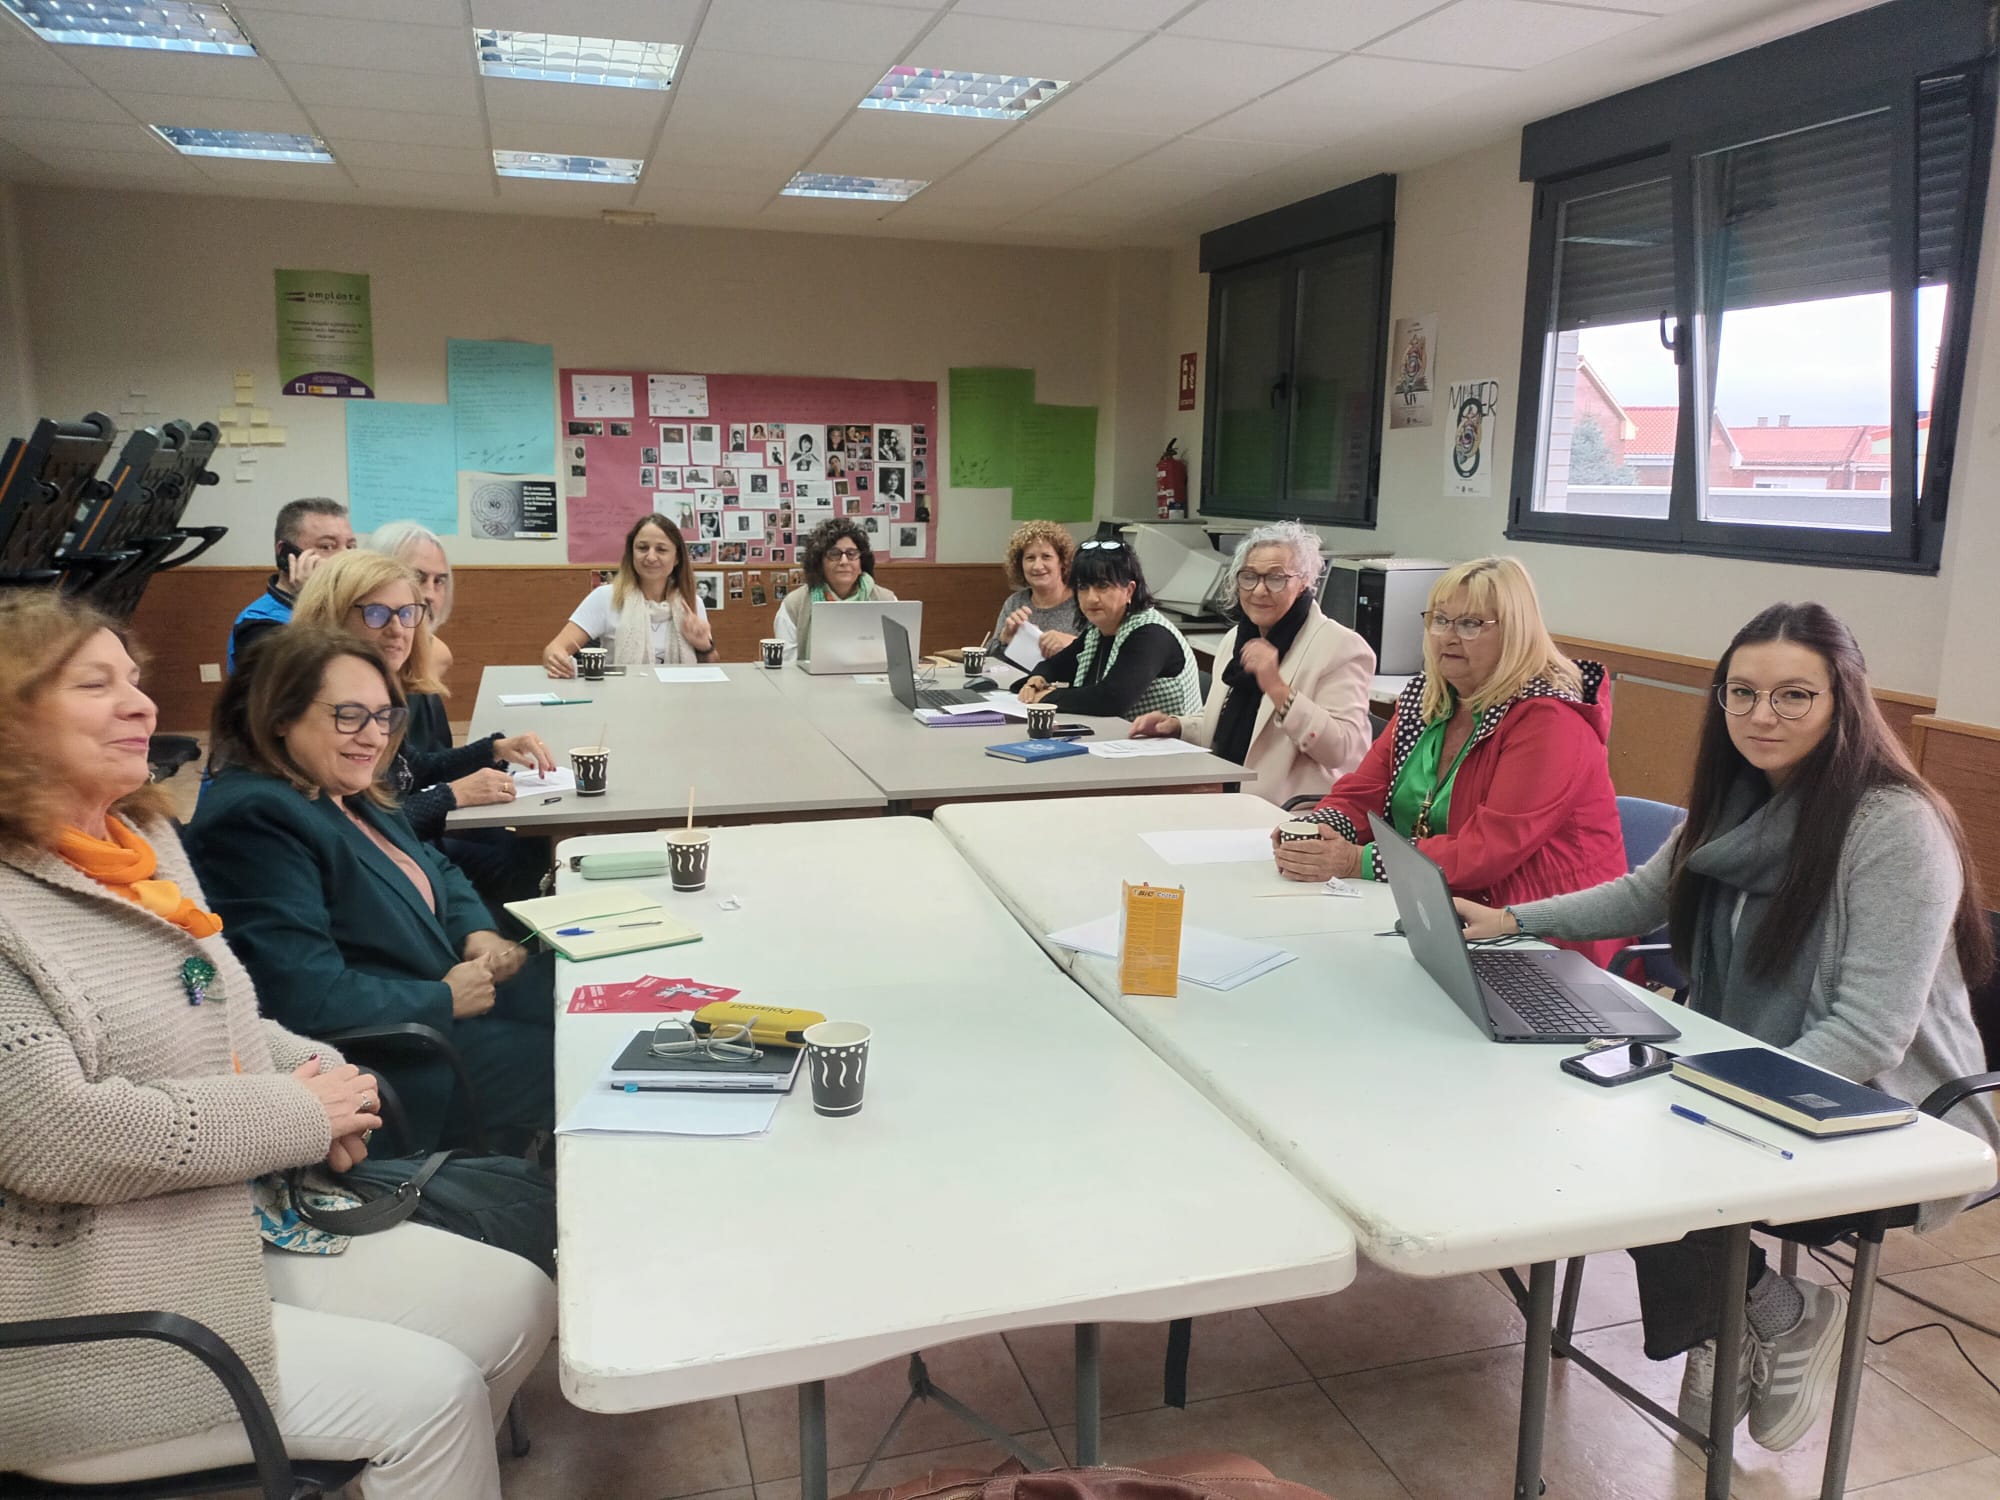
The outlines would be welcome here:
[[[202,902],[174,830],[142,832],[160,878]],[[194,956],[216,966],[200,1006],[182,984]],[[336,1056],[258,1016],[220,936],[0,846],[0,1322],[180,1312],[276,1404],[248,1182],[326,1158],[326,1112],[286,1076],[312,1052]],[[0,1354],[0,1470],[228,1420],[222,1386],[164,1344]]]

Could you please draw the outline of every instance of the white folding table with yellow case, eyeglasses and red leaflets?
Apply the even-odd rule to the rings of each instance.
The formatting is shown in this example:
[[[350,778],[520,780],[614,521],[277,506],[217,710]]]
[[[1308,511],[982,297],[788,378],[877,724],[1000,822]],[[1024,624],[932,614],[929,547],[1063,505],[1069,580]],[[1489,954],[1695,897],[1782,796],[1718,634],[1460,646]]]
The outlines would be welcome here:
[[[1078,1448],[1094,1456],[1100,1320],[1352,1280],[1340,1216],[1062,978],[928,822],[726,828],[706,892],[644,884],[704,938],[562,962],[558,998],[664,974],[862,1020],[868,1094],[824,1118],[802,1078],[762,1138],[560,1138],[562,1386],[578,1406],[796,1384],[804,1496],[824,1500],[828,1376],[1070,1322]],[[558,1016],[558,1118],[650,1020]]]

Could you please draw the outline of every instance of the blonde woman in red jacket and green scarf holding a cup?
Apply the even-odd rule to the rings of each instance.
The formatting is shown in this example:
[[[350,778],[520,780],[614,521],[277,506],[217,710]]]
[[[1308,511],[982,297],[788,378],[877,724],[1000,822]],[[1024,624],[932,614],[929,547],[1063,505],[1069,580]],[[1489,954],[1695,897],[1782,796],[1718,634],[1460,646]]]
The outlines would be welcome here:
[[[1514,558],[1462,562],[1430,590],[1424,670],[1396,718],[1302,814],[1326,824],[1318,844],[1274,836],[1278,872],[1380,880],[1368,844],[1368,814],[1380,812],[1482,906],[1616,880],[1626,858],[1610,724],[1604,668],[1556,650],[1528,572]],[[1604,964],[1622,944],[1568,946]]]

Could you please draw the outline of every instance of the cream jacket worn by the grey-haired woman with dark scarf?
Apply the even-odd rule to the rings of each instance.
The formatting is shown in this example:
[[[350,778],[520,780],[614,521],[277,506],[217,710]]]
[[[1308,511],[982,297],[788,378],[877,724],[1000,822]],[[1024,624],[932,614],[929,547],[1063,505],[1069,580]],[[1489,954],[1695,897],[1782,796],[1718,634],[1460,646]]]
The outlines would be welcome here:
[[[1180,738],[1206,746],[1222,718],[1222,700],[1230,696],[1222,668],[1236,654],[1236,638],[1248,626],[1224,636],[1216,650],[1216,672],[1208,684],[1208,702],[1200,714],[1180,720]],[[1292,640],[1292,650],[1278,662],[1278,676],[1292,690],[1292,708],[1278,722],[1270,698],[1258,704],[1256,728],[1250,732],[1250,754],[1244,764],[1256,772],[1246,792],[1276,802],[1280,808],[1294,796],[1310,792],[1326,796],[1338,776],[1346,776],[1368,754],[1374,726],[1368,722],[1368,684],[1374,678],[1374,652],[1368,642],[1320,614],[1312,606],[1304,628]]]

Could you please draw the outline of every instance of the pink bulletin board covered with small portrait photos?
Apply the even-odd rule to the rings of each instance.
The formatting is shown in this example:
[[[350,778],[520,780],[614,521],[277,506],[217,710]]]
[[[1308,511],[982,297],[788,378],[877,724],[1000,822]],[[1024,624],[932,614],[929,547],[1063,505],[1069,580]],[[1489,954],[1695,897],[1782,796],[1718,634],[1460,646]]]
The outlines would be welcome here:
[[[882,562],[936,556],[936,382],[562,370],[560,390],[570,562],[616,564],[652,510],[696,568],[796,566],[828,516]]]

